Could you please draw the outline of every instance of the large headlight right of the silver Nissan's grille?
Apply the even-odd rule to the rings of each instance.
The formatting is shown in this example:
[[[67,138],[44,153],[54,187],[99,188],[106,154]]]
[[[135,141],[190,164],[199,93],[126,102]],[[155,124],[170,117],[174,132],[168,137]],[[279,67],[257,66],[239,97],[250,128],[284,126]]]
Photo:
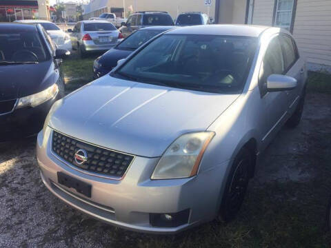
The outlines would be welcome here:
[[[188,178],[197,174],[201,158],[214,132],[183,134],[165,150],[152,179]]]

